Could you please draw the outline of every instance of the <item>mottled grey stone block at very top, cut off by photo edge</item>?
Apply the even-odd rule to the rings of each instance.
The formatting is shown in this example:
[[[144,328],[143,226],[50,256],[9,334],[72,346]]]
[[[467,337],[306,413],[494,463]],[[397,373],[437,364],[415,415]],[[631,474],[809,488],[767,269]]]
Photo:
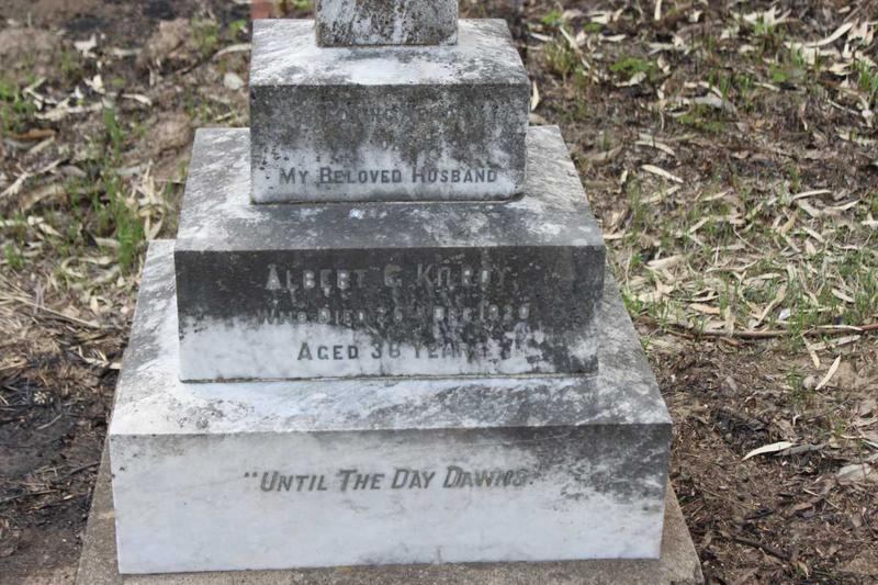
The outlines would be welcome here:
[[[457,0],[317,0],[317,43],[448,45],[458,40]]]

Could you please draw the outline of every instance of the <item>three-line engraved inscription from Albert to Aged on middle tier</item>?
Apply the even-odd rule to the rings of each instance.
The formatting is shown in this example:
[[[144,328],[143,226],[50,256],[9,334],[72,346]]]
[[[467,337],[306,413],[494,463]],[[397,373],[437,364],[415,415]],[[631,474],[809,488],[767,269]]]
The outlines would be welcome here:
[[[402,266],[401,266],[402,265]],[[477,259],[390,261],[370,266],[268,265],[258,322],[327,325],[369,334],[368,341],[295,341],[299,362],[526,358],[541,330],[533,300],[509,267]],[[304,331],[304,330],[303,330]]]

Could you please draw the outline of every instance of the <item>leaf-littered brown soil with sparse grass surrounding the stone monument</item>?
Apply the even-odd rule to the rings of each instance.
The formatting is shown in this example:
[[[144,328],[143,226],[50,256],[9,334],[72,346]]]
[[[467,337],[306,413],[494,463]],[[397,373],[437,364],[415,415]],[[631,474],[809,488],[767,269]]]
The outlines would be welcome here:
[[[461,5],[571,147],[708,581],[878,581],[878,3]],[[72,580],[144,240],[193,128],[247,125],[248,11],[0,2],[2,583]]]

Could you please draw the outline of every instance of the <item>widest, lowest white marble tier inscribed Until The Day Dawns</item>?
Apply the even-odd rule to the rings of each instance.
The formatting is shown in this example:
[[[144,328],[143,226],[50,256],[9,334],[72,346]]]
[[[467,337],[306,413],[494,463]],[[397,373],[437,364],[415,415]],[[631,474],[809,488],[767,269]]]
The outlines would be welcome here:
[[[109,431],[121,572],[658,556],[671,420],[612,282],[594,376],[188,384],[171,252]]]

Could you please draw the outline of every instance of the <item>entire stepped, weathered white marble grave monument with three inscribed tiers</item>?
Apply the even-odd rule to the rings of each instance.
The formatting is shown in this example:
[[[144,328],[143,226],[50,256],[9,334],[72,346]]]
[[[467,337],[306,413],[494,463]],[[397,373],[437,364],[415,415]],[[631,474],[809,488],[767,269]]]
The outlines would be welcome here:
[[[354,4],[346,43],[432,5]],[[198,133],[144,269],[122,573],[658,556],[671,419],[600,233],[500,23],[458,31],[257,25],[254,125]]]

